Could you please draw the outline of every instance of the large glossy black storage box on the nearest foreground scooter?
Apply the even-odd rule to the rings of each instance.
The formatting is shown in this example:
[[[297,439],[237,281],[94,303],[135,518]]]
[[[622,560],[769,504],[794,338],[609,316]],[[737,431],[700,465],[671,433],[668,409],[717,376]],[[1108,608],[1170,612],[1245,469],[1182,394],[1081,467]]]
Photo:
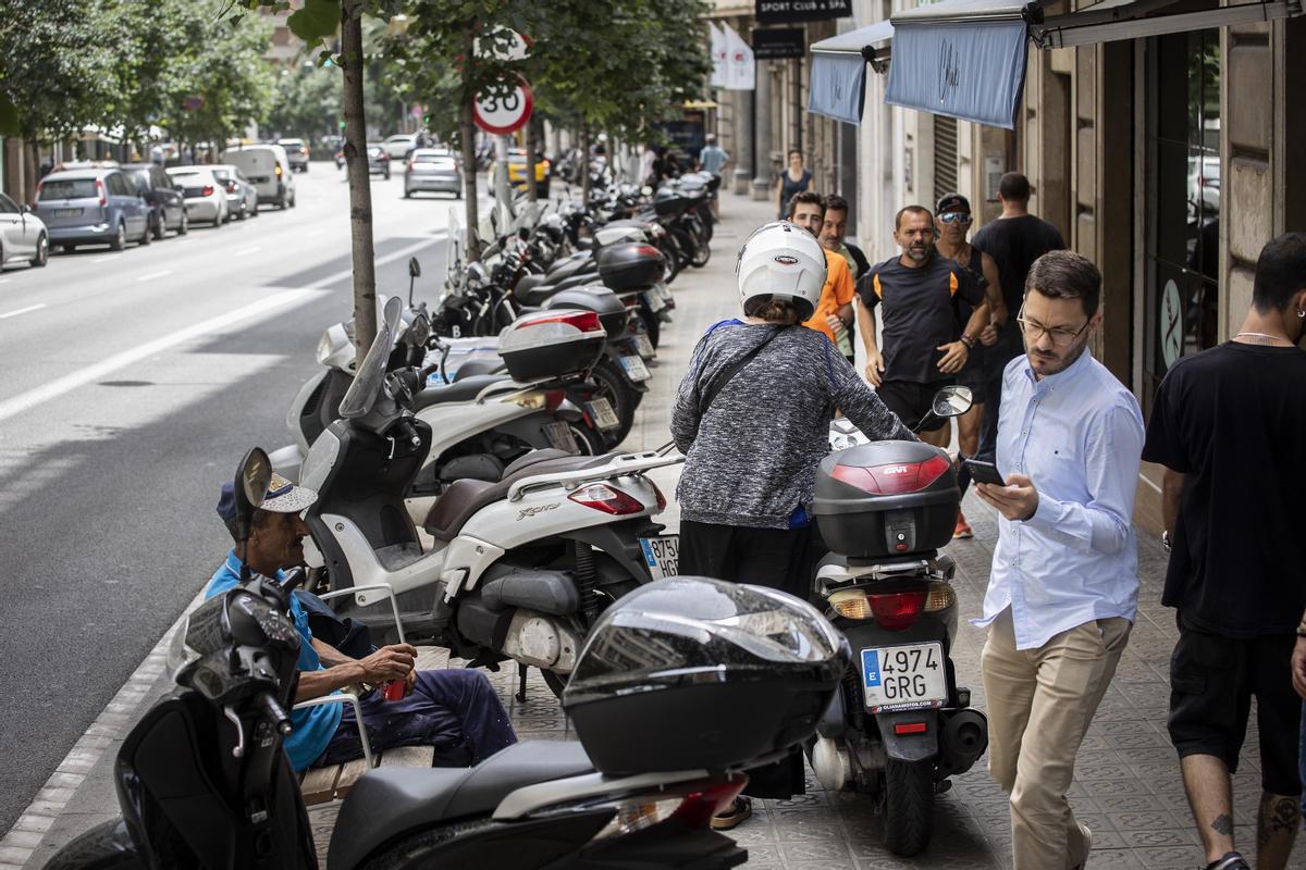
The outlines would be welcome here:
[[[563,708],[603,773],[718,772],[810,737],[848,661],[848,642],[806,601],[677,577],[603,612]]]

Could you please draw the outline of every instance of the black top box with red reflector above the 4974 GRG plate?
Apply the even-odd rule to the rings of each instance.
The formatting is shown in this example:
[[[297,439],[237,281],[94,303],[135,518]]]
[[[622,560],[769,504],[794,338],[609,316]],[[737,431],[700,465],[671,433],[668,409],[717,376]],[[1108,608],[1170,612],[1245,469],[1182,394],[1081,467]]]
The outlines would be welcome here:
[[[961,502],[948,455],[914,441],[875,441],[825,457],[815,494],[821,539],[858,560],[943,547]]]

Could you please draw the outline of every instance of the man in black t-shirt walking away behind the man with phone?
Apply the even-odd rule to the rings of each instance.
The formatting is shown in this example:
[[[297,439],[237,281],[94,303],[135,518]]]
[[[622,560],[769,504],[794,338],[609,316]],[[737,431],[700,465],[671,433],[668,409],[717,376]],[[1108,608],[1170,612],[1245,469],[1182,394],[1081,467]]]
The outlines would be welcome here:
[[[983,423],[980,427],[978,459],[993,462],[998,450],[998,408],[1002,406],[1002,373],[1007,363],[1025,352],[1016,327],[1016,313],[1025,296],[1025,279],[1034,261],[1049,250],[1060,250],[1066,241],[1057,227],[1029,214],[1029,179],[1020,172],[1008,172],[998,183],[998,201],[1002,217],[983,226],[970,244],[993,257],[998,263],[1002,297],[1007,303],[1010,318],[999,330],[998,343],[985,348],[986,399]]]

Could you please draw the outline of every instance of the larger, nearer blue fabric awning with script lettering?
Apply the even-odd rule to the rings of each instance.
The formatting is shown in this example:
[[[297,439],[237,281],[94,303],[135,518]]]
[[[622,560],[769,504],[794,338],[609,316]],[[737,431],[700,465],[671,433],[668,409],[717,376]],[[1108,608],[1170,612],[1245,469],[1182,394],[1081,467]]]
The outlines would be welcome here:
[[[893,16],[884,102],[1013,129],[1033,5],[944,0]]]

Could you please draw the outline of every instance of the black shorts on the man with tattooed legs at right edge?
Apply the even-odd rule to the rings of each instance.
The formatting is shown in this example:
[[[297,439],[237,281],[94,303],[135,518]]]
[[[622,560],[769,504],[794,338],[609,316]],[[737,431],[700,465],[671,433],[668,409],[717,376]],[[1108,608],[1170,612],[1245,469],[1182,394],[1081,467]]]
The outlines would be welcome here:
[[[1186,755],[1215,755],[1229,772],[1247,734],[1256,697],[1260,784],[1271,794],[1301,794],[1302,699],[1293,690],[1297,638],[1225,638],[1179,625],[1170,656],[1170,742]]]

